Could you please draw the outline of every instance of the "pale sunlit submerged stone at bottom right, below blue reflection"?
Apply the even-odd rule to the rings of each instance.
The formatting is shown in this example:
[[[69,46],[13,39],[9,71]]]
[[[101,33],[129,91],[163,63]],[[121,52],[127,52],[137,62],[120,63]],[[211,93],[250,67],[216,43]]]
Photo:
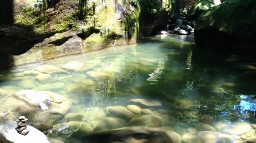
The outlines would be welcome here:
[[[247,122],[225,122],[220,121],[215,124],[215,129],[218,132],[229,134],[229,135],[244,135],[249,132],[252,127],[250,123]]]

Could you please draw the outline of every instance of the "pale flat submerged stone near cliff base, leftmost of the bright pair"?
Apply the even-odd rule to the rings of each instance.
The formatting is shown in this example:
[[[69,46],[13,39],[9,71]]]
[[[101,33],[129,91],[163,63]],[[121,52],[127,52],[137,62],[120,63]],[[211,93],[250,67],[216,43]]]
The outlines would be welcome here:
[[[35,70],[40,71],[42,73],[47,73],[47,74],[69,73],[66,70],[62,70],[61,68],[55,67],[52,65],[41,65],[41,66],[35,67]]]

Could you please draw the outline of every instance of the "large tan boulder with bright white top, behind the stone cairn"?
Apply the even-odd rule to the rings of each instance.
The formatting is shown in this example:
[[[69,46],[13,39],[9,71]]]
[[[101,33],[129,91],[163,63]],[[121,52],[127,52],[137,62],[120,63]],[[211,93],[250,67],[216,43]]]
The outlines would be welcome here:
[[[50,91],[21,90],[0,100],[0,122],[26,116],[30,122],[52,125],[66,115],[71,102]]]

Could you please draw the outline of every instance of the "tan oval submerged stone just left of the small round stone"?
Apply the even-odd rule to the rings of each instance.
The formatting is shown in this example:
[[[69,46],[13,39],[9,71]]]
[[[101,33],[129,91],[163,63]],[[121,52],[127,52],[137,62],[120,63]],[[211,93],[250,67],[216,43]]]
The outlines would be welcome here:
[[[125,121],[129,121],[131,118],[134,117],[134,114],[132,112],[122,106],[105,107],[104,112],[108,117],[122,118]]]

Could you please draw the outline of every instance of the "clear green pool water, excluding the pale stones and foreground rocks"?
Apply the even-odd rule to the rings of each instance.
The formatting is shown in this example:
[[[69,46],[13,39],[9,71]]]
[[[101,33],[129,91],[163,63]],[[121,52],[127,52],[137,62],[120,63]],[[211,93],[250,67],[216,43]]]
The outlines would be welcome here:
[[[0,72],[0,89],[8,95],[20,90],[58,93],[72,102],[68,113],[90,107],[126,107],[129,105],[126,101],[131,98],[154,99],[163,106],[148,109],[155,114],[159,109],[172,111],[173,116],[169,115],[167,120],[170,122],[166,126],[178,133],[189,127],[196,128],[205,120],[211,125],[218,121],[255,123],[255,59],[247,54],[198,48],[193,38],[155,36],[115,50],[108,48],[11,68]],[[70,61],[83,62],[91,68],[69,71],[68,74],[50,74],[51,78],[44,83],[35,79],[36,75],[17,78],[17,73],[34,70],[39,65],[61,67]],[[100,72],[100,75],[93,77],[87,74],[90,71]],[[22,81],[27,79],[33,85],[25,87]],[[86,91],[67,92],[70,84],[84,79],[95,84],[88,86]],[[83,121],[92,122],[89,119]],[[58,121],[61,122],[65,121]]]

